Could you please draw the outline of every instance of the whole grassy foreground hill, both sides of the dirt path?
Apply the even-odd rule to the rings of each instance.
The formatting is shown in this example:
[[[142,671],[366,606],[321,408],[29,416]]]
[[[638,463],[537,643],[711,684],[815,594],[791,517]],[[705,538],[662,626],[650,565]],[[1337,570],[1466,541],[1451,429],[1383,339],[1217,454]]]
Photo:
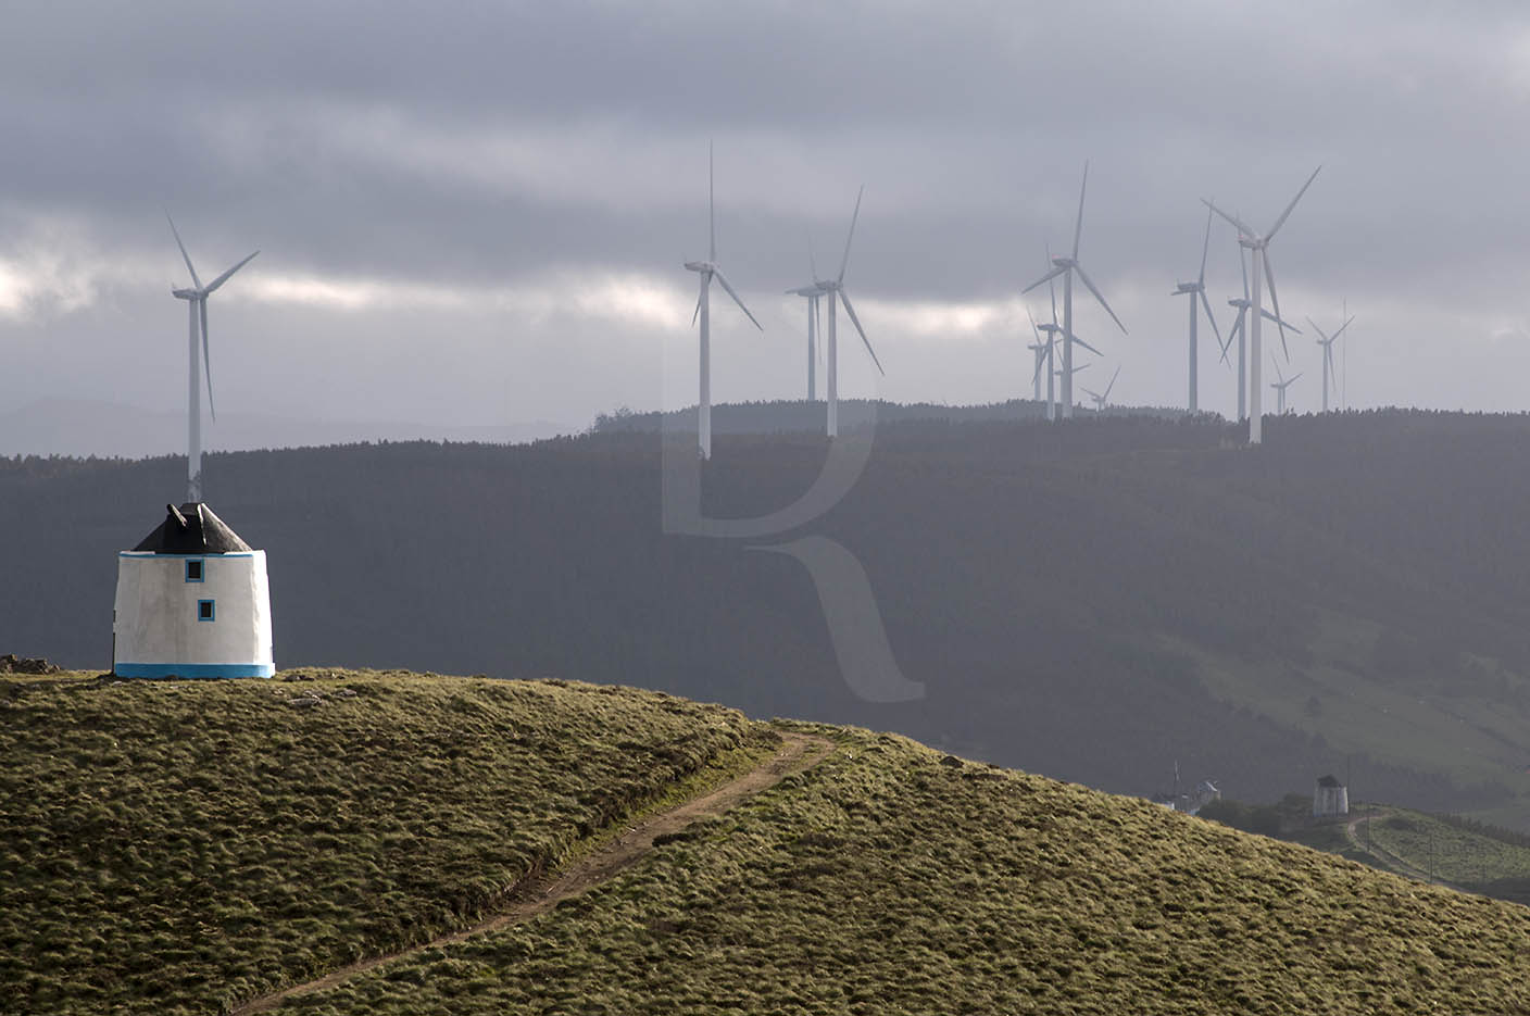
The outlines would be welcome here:
[[[343,696],[349,689],[356,695]],[[286,704],[318,692],[318,705]],[[214,1011],[464,923],[770,730],[652,693],[344,673],[0,681],[9,1011]],[[898,736],[301,1013],[1509,1013],[1530,910]]]

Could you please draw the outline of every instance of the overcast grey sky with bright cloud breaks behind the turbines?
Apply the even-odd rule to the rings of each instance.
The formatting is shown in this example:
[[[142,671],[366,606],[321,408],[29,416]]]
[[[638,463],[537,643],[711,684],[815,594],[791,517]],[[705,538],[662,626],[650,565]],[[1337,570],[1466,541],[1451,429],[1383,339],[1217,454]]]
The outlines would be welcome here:
[[[1080,259],[1129,335],[1080,297],[1105,353],[1080,384],[1121,364],[1118,401],[1183,405],[1169,294],[1200,199],[1265,228],[1322,164],[1271,262],[1304,329],[1348,300],[1349,402],[1530,405],[1522,5],[17,3],[0,93],[12,405],[185,404],[167,207],[203,278],[262,251],[211,300],[220,413],[580,427],[693,402],[708,141],[719,260],[765,326],[713,291],[718,401],[805,393],[782,291],[809,237],[834,268],[861,184],[845,282],[887,375],[842,343],[845,387],[1028,395],[1025,309],[1048,311],[1019,291],[1088,159]],[[1207,285],[1226,331],[1219,222]],[[1232,412],[1204,324],[1201,399]]]

